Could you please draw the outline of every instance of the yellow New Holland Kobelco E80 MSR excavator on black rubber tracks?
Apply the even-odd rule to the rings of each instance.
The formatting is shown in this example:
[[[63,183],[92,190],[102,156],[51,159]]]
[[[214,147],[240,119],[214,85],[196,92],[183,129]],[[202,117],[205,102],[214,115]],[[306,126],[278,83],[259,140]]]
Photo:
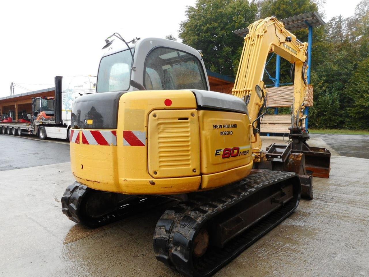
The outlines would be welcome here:
[[[112,37],[124,46],[113,48]],[[307,44],[275,17],[251,24],[227,95],[209,91],[201,52],[192,47],[126,42],[117,33],[106,43],[97,93],[72,106],[76,182],[62,196],[62,211],[94,228],[175,199],[155,227],[156,259],[187,276],[210,276],[296,209],[301,183],[311,190],[301,124]],[[295,93],[292,143],[263,153],[269,52],[295,65]]]

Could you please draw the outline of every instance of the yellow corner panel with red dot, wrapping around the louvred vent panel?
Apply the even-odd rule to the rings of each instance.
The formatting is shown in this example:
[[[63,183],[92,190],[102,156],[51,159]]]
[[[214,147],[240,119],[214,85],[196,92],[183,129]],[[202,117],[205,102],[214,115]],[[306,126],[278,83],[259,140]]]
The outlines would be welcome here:
[[[165,100],[171,105],[166,106]],[[125,194],[178,194],[196,191],[201,177],[157,178],[148,172],[147,147],[125,146],[121,134],[123,131],[147,132],[149,114],[153,110],[196,109],[196,99],[191,91],[186,90],[145,90],[124,93],[119,101],[117,153],[119,187],[118,192]],[[147,133],[146,144],[147,146]],[[153,184],[153,182],[155,184]],[[189,182],[189,186],[183,186]],[[197,187],[196,187],[197,186]]]

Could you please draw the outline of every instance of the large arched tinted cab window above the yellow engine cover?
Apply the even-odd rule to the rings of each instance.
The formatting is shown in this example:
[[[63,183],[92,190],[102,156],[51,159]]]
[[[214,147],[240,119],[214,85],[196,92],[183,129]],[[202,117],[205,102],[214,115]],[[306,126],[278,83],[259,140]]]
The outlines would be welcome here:
[[[166,47],[155,48],[146,57],[144,86],[147,90],[207,90],[200,61],[191,54]]]

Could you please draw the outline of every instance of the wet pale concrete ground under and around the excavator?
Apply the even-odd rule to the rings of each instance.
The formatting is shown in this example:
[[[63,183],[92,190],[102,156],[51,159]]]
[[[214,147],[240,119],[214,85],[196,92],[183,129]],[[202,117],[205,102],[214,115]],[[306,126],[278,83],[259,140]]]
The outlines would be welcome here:
[[[309,144],[331,150],[330,178],[314,178],[312,201],[214,276],[368,276],[369,160],[342,157],[321,138]],[[180,276],[152,250],[164,208],[87,229],[61,212],[73,181],[69,163],[0,172],[1,276]]]

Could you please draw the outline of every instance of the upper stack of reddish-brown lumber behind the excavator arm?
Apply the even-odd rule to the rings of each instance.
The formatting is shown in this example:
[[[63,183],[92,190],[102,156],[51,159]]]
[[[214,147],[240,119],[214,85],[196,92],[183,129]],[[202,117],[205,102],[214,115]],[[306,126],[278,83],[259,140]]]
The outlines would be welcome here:
[[[280,86],[268,88],[268,107],[290,107],[293,101],[293,86]],[[313,86],[307,85],[305,89],[305,106],[313,106]]]

